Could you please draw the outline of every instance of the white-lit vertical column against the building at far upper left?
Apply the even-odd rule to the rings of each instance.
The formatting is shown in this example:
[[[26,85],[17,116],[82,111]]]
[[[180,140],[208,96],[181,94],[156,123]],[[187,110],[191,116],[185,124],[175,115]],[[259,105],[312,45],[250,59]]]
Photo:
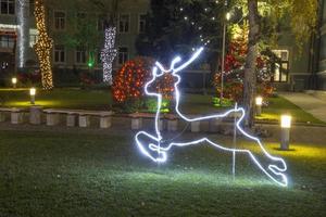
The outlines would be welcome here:
[[[28,1],[16,1],[17,11],[17,66],[20,68],[25,66],[26,48],[28,47]]]

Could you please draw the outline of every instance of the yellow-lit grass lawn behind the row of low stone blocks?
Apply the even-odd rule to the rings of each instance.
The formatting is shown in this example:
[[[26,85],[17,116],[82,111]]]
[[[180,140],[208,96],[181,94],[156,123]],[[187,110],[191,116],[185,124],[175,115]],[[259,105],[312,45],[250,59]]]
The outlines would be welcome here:
[[[0,89],[1,106],[29,106],[28,89]],[[37,90],[36,104],[45,107],[109,110],[112,104],[110,90],[54,89]],[[212,95],[185,94],[180,110],[186,114],[212,114],[221,111],[212,104]],[[284,98],[271,98],[258,119],[278,122],[280,114],[290,113],[294,122],[324,124]]]

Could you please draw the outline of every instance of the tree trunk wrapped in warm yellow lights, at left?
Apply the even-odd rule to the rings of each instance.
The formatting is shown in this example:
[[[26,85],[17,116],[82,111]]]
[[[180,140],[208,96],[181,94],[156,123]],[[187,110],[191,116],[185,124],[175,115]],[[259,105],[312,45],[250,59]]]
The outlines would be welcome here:
[[[41,72],[41,84],[46,90],[53,88],[52,68],[51,68],[51,49],[53,40],[49,37],[46,25],[46,9],[43,0],[35,1],[35,18],[36,26],[39,33],[39,38],[34,48],[39,60]]]

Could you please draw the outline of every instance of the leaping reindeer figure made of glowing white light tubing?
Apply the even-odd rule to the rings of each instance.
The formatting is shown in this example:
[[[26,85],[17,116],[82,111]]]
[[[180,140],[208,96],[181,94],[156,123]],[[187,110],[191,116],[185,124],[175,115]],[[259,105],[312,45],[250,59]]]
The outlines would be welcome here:
[[[229,110],[228,112],[225,112],[223,114],[215,114],[210,116],[203,116],[198,118],[188,118],[185,115],[181,114],[179,111],[179,100],[180,100],[180,92],[178,89],[178,85],[180,82],[180,76],[178,75],[178,72],[186,68],[189,64],[191,64],[203,51],[203,48],[199,49],[187,62],[179,65],[178,67],[175,67],[177,63],[181,61],[180,58],[176,58],[172,61],[170,69],[165,69],[162,64],[159,62],[155,63],[155,67],[152,72],[152,79],[149,80],[145,86],[145,91],[150,97],[155,97],[158,99],[158,111],[155,115],[155,135],[151,135],[146,131],[140,131],[136,135],[136,143],[141,151],[142,154],[145,154],[147,157],[152,159],[156,163],[163,163],[167,159],[167,152],[173,146],[187,146],[191,144],[198,144],[198,143],[209,143],[213,145],[214,148],[218,148],[224,151],[229,151],[234,153],[247,153],[252,161],[255,163],[255,165],[265,174],[267,175],[273,181],[277,182],[278,184],[286,187],[288,184],[287,177],[284,174],[287,169],[287,165],[285,161],[280,157],[272,156],[263,146],[260,139],[249,135],[241,127],[241,122],[244,118],[244,110],[242,107],[235,107],[233,110]],[[160,71],[160,72],[159,72]],[[164,74],[172,74],[175,78],[174,84],[174,100],[175,100],[175,113],[185,122],[191,123],[191,122],[200,122],[200,120],[211,120],[216,118],[223,118],[230,114],[241,114],[239,119],[236,122],[236,128],[239,130],[244,137],[249,138],[253,142],[259,145],[260,153],[251,152],[250,150],[244,149],[229,149],[226,146],[223,146],[216,142],[214,142],[215,139],[213,138],[205,138],[200,136],[199,133],[193,133],[193,137],[196,137],[193,140],[189,141],[189,139],[184,138],[171,138],[168,135],[163,135],[163,132],[160,131],[159,122],[160,122],[160,110],[162,106],[162,94],[159,92],[151,92],[150,86],[154,84],[154,81],[159,78],[161,78]],[[192,138],[193,138],[192,137]],[[177,140],[177,141],[175,141]],[[261,157],[263,156],[263,157]],[[263,163],[267,162],[267,163]]]

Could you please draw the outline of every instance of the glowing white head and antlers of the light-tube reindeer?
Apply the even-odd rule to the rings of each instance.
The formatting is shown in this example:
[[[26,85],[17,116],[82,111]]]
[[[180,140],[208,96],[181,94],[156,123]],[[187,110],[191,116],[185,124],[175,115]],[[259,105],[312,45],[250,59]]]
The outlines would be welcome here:
[[[156,94],[158,91],[154,92],[155,87],[153,87],[154,84],[158,84],[156,81],[164,78],[166,74],[171,74],[173,76],[174,80],[174,87],[176,87],[180,82],[180,76],[177,74],[178,72],[185,69],[188,65],[190,65],[203,51],[203,48],[198,49],[192,56],[181,65],[176,67],[177,63],[181,62],[181,58],[177,56],[171,62],[170,69],[165,69],[164,66],[160,63],[155,63],[155,67],[152,71],[152,79],[148,81],[145,86],[145,90],[147,94]]]

